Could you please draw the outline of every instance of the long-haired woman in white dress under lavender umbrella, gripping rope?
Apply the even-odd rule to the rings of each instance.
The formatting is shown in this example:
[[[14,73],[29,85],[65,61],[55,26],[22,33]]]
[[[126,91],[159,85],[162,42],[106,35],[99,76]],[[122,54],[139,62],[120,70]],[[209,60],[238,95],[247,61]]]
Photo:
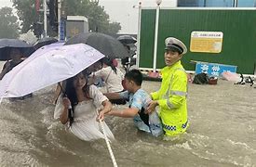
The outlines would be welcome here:
[[[61,94],[58,98],[54,118],[60,119],[62,124],[82,140],[104,138],[97,119],[103,120],[103,114],[109,112],[112,105],[95,85],[88,84],[87,71],[67,80],[64,95],[66,96]],[[107,137],[114,140],[115,137],[107,124],[102,122],[102,125]]]

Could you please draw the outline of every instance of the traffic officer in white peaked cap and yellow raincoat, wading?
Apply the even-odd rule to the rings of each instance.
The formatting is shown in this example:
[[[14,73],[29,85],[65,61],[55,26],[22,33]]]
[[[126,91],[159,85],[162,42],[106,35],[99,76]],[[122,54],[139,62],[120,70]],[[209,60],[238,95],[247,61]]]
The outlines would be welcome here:
[[[184,133],[188,127],[187,74],[181,64],[181,58],[187,48],[182,41],[174,37],[168,37],[165,45],[166,67],[161,71],[161,87],[151,94],[153,101],[147,110],[152,112],[159,106],[165,135],[175,136]]]

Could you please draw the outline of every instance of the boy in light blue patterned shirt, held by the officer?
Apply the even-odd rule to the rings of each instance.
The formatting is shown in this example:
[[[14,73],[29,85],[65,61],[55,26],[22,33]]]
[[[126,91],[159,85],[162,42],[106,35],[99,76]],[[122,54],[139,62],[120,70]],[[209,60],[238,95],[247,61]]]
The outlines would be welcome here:
[[[156,113],[145,113],[148,107],[151,96],[141,89],[142,74],[141,71],[131,70],[125,74],[125,84],[127,91],[121,93],[108,93],[104,94],[109,99],[124,98],[128,101],[129,107],[122,110],[111,110],[108,115],[114,115],[124,118],[133,118],[135,125],[141,131],[151,133],[158,136],[163,134],[162,124]]]

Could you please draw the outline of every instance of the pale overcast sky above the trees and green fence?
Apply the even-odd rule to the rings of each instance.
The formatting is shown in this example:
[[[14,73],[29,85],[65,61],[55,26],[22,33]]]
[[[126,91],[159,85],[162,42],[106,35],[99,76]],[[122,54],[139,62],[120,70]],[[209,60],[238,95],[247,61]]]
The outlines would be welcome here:
[[[11,0],[0,0],[0,8],[12,5]],[[42,0],[41,0],[42,1]],[[162,0],[161,6],[175,6],[176,0]],[[138,32],[138,6],[139,0],[100,0],[100,6],[104,6],[111,21],[121,23],[122,33]],[[155,0],[141,0],[142,6],[156,6]]]

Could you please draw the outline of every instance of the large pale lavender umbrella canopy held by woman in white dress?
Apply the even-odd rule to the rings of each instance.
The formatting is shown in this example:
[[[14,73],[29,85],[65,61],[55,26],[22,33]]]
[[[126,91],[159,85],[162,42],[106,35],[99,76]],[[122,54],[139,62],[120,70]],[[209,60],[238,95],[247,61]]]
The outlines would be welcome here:
[[[0,81],[0,98],[30,94],[85,70],[104,55],[85,44],[41,47],[7,72]]]

